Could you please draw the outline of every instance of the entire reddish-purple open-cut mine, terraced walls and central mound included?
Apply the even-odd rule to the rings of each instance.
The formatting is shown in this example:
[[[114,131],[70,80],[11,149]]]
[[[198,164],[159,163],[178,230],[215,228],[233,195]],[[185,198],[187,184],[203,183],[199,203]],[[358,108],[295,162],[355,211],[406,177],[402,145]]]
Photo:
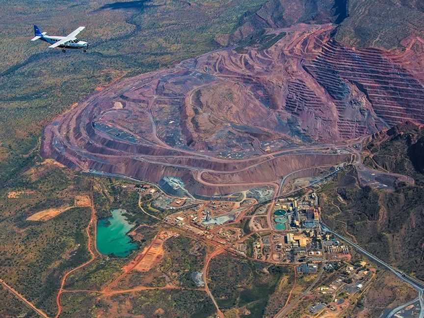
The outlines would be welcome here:
[[[192,193],[227,194],[350,162],[348,150],[329,147],[424,122],[413,45],[354,50],[331,39],[333,28],[278,29],[287,36],[265,51],[217,51],[126,79],[50,124],[42,153],[81,170],[176,176]]]

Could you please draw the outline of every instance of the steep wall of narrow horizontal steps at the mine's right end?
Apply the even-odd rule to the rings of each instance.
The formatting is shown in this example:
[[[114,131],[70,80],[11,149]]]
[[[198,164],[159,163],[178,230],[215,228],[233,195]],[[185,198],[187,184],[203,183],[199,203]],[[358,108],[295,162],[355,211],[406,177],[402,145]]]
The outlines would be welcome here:
[[[416,58],[411,56],[411,60]],[[344,138],[351,134],[349,127],[355,124],[342,116],[346,104],[340,85],[346,81],[360,84],[372,105],[372,112],[388,126],[412,117],[424,122],[424,88],[416,78],[419,74],[390,53],[371,48],[353,50],[330,40],[322,44],[321,52],[304,68],[332,96],[340,114],[338,126]],[[378,121],[375,125],[377,130],[385,128]],[[366,125],[360,126],[358,131],[373,132],[366,128]]]

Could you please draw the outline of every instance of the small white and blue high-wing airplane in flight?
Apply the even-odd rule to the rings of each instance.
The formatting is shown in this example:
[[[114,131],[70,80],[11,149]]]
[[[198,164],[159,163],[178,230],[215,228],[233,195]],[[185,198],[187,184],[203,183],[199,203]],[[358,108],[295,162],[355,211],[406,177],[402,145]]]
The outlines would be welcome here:
[[[47,43],[52,44],[49,48],[62,48],[62,52],[65,53],[65,49],[82,49],[82,51],[87,52],[88,43],[84,41],[79,41],[76,36],[81,32],[85,27],[79,27],[75,31],[69,33],[67,36],[50,36],[46,32],[41,32],[41,30],[34,26],[35,36],[31,41],[42,40]]]

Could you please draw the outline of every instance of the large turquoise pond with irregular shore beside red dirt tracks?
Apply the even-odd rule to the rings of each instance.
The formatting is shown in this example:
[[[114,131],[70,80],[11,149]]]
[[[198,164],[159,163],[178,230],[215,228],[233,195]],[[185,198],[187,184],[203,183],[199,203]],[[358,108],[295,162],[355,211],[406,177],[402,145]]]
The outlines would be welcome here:
[[[138,248],[138,244],[127,235],[134,225],[123,215],[126,212],[124,209],[112,210],[111,217],[97,222],[96,246],[100,253],[127,257]]]

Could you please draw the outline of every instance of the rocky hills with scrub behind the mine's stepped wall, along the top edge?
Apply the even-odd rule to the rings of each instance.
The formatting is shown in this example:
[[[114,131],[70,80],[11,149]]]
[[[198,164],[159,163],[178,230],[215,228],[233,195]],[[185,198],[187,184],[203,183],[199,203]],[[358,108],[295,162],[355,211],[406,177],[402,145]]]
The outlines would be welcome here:
[[[335,39],[346,46],[402,49],[406,38],[423,37],[423,18],[420,0],[267,0],[257,11],[246,12],[235,31],[215,39],[237,44],[269,28],[334,23]]]

